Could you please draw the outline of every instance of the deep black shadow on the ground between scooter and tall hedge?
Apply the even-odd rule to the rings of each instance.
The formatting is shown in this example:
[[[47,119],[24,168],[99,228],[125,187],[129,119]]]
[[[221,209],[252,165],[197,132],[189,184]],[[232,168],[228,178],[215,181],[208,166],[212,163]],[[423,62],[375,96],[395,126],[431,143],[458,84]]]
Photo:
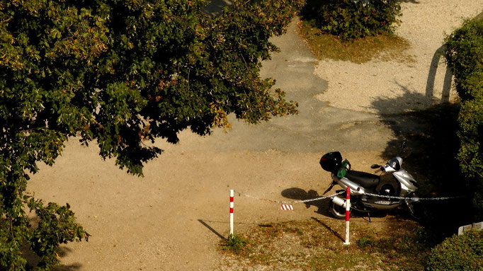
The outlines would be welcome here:
[[[440,103],[424,110],[407,108],[409,112],[402,114],[385,113],[387,108],[395,105],[432,99],[406,90],[396,98],[377,98],[372,105],[380,113],[381,122],[390,127],[396,137],[387,143],[382,156],[386,159],[396,156],[401,142],[408,142],[407,151],[402,155],[403,168],[418,181],[420,187],[416,193],[419,196],[466,196],[463,199],[424,201],[428,216],[420,222],[436,238],[442,239],[456,233],[459,226],[472,219],[470,191],[456,160],[460,147],[457,136],[459,105]]]

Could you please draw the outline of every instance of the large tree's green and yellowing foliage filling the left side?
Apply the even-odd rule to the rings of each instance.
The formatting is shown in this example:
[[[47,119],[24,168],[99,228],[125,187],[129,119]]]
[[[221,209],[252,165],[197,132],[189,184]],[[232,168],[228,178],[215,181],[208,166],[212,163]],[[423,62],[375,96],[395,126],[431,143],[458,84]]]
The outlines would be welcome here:
[[[69,137],[142,175],[161,153],[144,141],[295,113],[259,69],[302,2],[233,1],[214,18],[204,0],[0,0],[0,267],[25,270],[30,249],[49,270],[59,243],[89,237],[69,204],[25,192]]]

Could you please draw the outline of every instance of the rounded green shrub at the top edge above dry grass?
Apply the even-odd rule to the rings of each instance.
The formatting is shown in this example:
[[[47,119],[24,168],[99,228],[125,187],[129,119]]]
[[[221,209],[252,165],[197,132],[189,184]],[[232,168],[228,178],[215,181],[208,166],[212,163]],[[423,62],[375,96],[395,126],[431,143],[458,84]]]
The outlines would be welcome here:
[[[392,33],[400,0],[309,0],[302,10],[325,33],[343,40]]]

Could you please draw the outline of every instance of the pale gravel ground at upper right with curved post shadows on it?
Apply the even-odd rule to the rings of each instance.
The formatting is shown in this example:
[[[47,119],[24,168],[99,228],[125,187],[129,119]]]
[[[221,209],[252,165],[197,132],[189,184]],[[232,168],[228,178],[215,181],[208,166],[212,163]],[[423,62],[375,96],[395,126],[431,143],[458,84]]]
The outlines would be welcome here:
[[[329,81],[329,88],[317,98],[335,108],[379,114],[402,113],[454,100],[451,74],[438,52],[445,35],[458,28],[464,18],[482,11],[483,0],[403,3],[402,23],[396,34],[411,43],[411,48],[403,52],[409,56],[408,61],[375,59],[355,64],[322,60],[314,74]]]

